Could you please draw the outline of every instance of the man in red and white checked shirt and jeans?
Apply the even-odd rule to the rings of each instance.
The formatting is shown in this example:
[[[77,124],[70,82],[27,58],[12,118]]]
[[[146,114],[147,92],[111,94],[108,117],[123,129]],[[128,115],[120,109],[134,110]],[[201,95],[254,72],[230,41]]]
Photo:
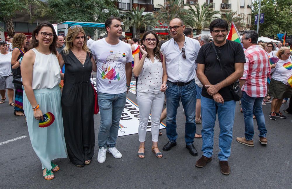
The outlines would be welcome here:
[[[237,142],[249,147],[253,147],[253,114],[256,116],[261,144],[267,144],[267,129],[265,117],[262,110],[262,101],[267,94],[267,76],[270,75],[271,68],[269,57],[266,51],[257,44],[258,33],[254,30],[244,31],[242,44],[246,63],[244,73],[240,78],[240,86],[243,97],[241,106],[244,115],[245,137],[237,137]]]

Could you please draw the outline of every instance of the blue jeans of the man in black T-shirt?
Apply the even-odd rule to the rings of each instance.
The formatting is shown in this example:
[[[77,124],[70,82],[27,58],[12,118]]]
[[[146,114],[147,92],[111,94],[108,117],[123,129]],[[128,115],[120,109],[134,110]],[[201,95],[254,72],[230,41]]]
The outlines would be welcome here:
[[[218,158],[220,161],[228,160],[231,150],[235,105],[235,100],[224,101],[224,104],[221,104],[213,99],[201,97],[202,151],[204,156],[210,158],[213,155],[214,126],[216,114],[218,114],[220,128]]]

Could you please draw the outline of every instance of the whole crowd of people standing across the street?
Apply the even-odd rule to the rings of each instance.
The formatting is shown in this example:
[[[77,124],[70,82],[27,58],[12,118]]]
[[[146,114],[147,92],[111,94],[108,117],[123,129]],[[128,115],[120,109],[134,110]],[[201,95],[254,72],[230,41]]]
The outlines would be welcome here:
[[[0,103],[6,100],[7,89],[14,115],[26,117],[44,179],[53,179],[53,172],[60,169],[52,162],[56,158],[68,156],[78,167],[91,163],[96,103],[100,112],[97,160],[105,162],[106,152],[115,158],[122,157],[116,141],[132,72],[137,81],[140,110],[139,158],[145,158],[150,112],[151,149],[157,158],[162,158],[159,124],[166,117],[168,142],[162,149],[171,150],[177,144],[176,115],[182,104],[185,147],[192,156],[198,155],[194,138],[202,138],[203,155],[195,164],[200,168],[212,160],[218,115],[218,159],[225,175],[230,174],[228,158],[236,101],[241,100],[244,115],[244,137],[236,138],[241,144],[254,146],[253,116],[258,124],[259,142],[267,144],[262,111],[265,103],[271,103],[270,119],[286,118],[280,107],[283,100],[287,102],[284,98],[291,98],[292,94],[288,81],[292,77],[291,48],[278,43],[278,49],[274,49],[272,42],[258,45],[258,34],[253,30],[243,32],[241,44],[226,40],[228,24],[224,19],[215,19],[209,26],[213,42],[209,42],[208,35],[194,39],[192,29],[186,28],[180,18],[169,22],[172,38],[168,41],[160,41],[152,30],[145,31],[141,39],[123,40],[121,26],[120,18],[107,19],[107,37],[94,41],[82,26],[68,28],[64,38],[55,33],[51,23],[43,22],[34,29],[29,46],[21,33],[15,34],[12,42],[0,41]],[[132,55],[137,49],[140,52]],[[271,64],[271,57],[277,61]],[[91,84],[92,71],[97,72],[97,94]],[[165,96],[167,108],[163,110]],[[283,112],[292,114],[291,101]],[[54,121],[41,127],[46,113],[53,114]],[[202,124],[201,135],[196,133],[196,124]]]

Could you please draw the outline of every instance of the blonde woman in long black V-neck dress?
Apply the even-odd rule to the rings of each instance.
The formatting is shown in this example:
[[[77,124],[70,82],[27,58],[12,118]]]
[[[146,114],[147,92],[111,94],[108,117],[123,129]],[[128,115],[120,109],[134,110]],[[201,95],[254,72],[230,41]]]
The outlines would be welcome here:
[[[78,167],[90,164],[95,142],[90,77],[91,70],[96,72],[97,67],[85,39],[82,26],[71,26],[59,55],[60,67],[65,64],[66,70],[61,104],[67,153]]]

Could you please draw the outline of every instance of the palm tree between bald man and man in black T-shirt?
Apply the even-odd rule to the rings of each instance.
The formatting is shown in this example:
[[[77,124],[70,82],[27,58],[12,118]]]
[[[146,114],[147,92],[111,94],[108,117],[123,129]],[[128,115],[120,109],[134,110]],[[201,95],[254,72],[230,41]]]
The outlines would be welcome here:
[[[214,19],[218,18],[217,15],[220,15],[220,11],[210,8],[213,6],[213,3],[208,4],[206,7],[205,4],[201,6],[196,4],[195,9],[191,5],[187,6],[195,18],[194,28],[197,30],[197,35],[201,34],[202,29],[207,28]]]

